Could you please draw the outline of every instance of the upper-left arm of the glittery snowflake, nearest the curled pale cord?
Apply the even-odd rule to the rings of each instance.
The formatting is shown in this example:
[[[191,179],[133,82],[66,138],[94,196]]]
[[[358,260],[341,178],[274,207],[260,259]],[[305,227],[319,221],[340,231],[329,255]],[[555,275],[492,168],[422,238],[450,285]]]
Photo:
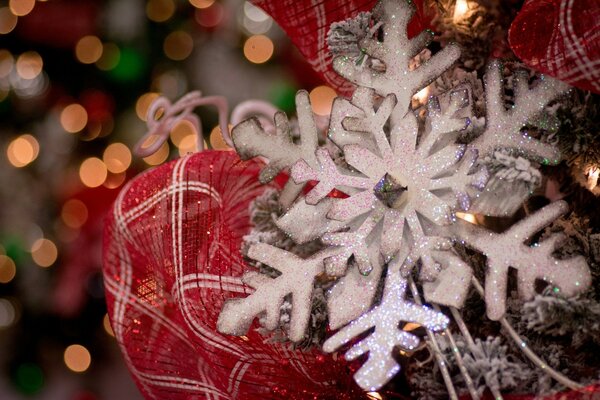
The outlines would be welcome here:
[[[296,94],[296,109],[300,126],[300,144],[295,144],[290,135],[287,116],[275,114],[276,133],[265,132],[256,118],[251,118],[233,128],[235,149],[242,159],[263,156],[269,163],[260,173],[260,181],[271,181],[284,168],[302,159],[311,165],[317,164],[315,150],[318,147],[317,127],[312,114],[308,93],[301,90]]]

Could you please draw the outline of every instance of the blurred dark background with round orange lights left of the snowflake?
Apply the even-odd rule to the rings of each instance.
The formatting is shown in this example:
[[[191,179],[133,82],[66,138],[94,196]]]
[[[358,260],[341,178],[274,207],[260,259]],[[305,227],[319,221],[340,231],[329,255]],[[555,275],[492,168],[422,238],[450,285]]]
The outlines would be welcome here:
[[[140,399],[108,323],[103,216],[138,172],[196,146],[189,125],[138,159],[159,94],[265,99],[322,83],[242,0],[0,1],[0,399]],[[221,149],[216,110],[198,110]]]

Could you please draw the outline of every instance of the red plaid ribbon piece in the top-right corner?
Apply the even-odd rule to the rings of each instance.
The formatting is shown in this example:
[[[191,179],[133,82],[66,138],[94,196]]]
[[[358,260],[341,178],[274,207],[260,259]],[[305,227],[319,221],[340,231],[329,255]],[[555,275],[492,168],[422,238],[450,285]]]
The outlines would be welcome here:
[[[530,67],[600,93],[600,1],[529,0],[509,43]]]

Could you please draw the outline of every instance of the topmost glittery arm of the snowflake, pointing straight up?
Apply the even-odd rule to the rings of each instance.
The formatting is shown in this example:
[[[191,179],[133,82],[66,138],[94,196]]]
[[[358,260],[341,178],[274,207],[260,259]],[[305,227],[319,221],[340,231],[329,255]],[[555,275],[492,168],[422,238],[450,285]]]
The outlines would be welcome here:
[[[460,50],[455,45],[446,46],[428,62],[410,71],[409,61],[431,41],[433,33],[425,31],[408,39],[406,28],[415,8],[407,1],[384,0],[377,7],[374,14],[383,22],[384,41],[365,38],[361,47],[369,56],[385,63],[385,72],[356,65],[354,58],[345,56],[335,58],[333,67],[358,86],[373,88],[383,96],[396,94],[399,108],[407,110],[411,96],[448,69],[458,59]]]

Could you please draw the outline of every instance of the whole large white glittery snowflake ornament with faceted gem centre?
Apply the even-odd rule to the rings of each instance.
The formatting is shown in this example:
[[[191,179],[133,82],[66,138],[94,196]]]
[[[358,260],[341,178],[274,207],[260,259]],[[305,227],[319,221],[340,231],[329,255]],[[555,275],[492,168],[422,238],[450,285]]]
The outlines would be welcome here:
[[[248,256],[280,275],[250,272],[244,276],[255,292],[225,304],[218,330],[243,335],[255,318],[265,315],[266,328],[275,329],[281,304],[291,301],[288,336],[301,341],[310,319],[315,281],[322,276],[336,279],[327,302],[330,328],[339,330],[325,341],[323,349],[333,352],[352,342],[347,359],[368,353],[355,375],[365,390],[380,388],[398,372],[395,348],[411,350],[419,344],[417,336],[401,329],[404,323],[417,323],[429,332],[448,326],[443,313],[417,305],[418,292],[407,293],[413,275],[427,302],[463,305],[474,278],[469,264],[454,250],[457,241],[488,259],[485,300],[488,316],[494,320],[501,319],[505,311],[509,267],[518,270],[523,298],[534,295],[537,279],[566,295],[580,293],[590,284],[583,259],[556,260],[552,256],[560,237],[526,244],[566,212],[564,203],[551,204],[504,233],[463,223],[455,215],[467,210],[494,215],[489,206],[493,192],[486,187],[489,174],[482,162],[494,152],[558,162],[555,147],[521,130],[566,86],[544,77],[530,89],[525,76],[517,75],[514,106],[507,110],[502,101],[501,65],[493,62],[485,77],[485,128],[471,142],[458,143],[459,136],[471,128],[468,87],[430,98],[424,123],[419,122],[417,111],[410,109],[412,96],[460,55],[459,48],[450,45],[411,68],[412,58],[432,36],[423,32],[413,39],[407,37],[413,12],[408,2],[381,1],[372,14],[376,21],[369,22],[373,26],[363,15],[359,25],[365,34],[353,36],[358,37],[367,57],[358,53],[334,59],[335,70],[357,85],[350,100],[337,98],[332,107],[326,140],[341,149],[341,159],[334,160],[327,144],[319,146],[304,91],[296,97],[298,141],[292,139],[283,113],[275,116],[274,134],[255,118],[232,131],[242,158],[267,159],[263,182],[284,169],[290,173],[281,196],[285,213],[276,221],[279,228],[298,244],[320,239],[325,248],[302,259],[268,244],[252,245]],[[302,195],[308,182],[316,182],[316,186]],[[328,197],[333,190],[347,197]],[[487,195],[485,202],[478,202],[480,194]],[[354,341],[370,330],[367,337]]]

